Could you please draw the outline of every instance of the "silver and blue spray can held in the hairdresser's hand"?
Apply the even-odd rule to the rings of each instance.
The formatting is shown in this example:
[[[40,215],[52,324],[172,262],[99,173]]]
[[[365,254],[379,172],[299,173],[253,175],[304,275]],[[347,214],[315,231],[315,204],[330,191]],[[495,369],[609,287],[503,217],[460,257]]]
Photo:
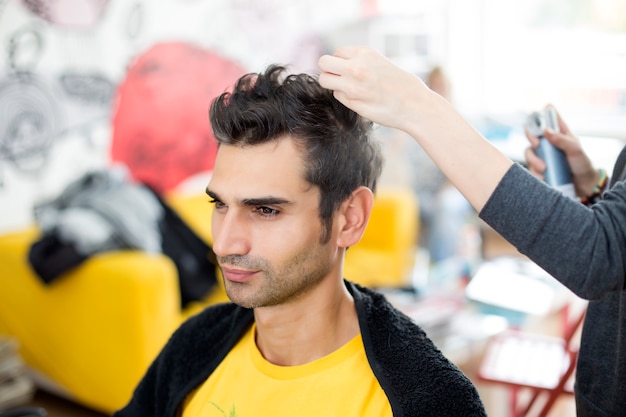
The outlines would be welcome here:
[[[526,128],[531,134],[539,138],[539,147],[537,147],[536,152],[546,163],[546,171],[543,173],[545,182],[566,196],[576,199],[572,174],[565,154],[543,136],[546,128],[559,131],[556,111],[553,108],[546,108],[531,113],[526,120]]]

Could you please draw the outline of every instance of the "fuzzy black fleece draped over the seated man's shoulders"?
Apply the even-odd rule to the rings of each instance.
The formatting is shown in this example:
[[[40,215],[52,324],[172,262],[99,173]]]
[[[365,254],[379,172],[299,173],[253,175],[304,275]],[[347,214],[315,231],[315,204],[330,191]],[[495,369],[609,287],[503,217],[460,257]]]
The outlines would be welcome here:
[[[381,294],[350,282],[346,286],[367,358],[394,416],[486,416],[475,387],[419,326]],[[252,310],[234,304],[209,307],[187,320],[114,417],[175,417],[185,397],[211,375],[253,320]]]

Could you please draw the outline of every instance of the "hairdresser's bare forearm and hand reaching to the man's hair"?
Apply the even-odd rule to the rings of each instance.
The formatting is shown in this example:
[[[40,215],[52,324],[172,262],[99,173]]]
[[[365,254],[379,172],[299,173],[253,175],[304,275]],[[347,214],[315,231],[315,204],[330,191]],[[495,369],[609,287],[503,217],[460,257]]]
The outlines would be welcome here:
[[[369,48],[340,48],[318,64],[320,84],[333,90],[337,100],[375,123],[409,134],[472,206],[482,209],[512,161],[445,98]]]

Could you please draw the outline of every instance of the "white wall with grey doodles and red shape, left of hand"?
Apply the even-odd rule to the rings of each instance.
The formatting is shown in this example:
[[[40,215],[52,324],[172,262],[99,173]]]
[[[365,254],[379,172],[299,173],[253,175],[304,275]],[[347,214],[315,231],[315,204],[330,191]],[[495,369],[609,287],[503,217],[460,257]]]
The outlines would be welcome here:
[[[34,203],[86,171],[124,163],[162,192],[210,173],[211,99],[244,69],[314,70],[319,28],[354,17],[338,9],[334,0],[0,0],[0,233],[26,226]]]

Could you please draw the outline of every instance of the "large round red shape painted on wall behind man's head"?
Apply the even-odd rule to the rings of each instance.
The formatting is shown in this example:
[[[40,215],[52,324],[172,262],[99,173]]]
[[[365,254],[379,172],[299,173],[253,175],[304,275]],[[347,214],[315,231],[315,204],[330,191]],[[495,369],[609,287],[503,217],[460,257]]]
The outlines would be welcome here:
[[[159,193],[211,171],[217,143],[210,103],[244,73],[233,61],[194,45],[154,45],[132,63],[118,88],[111,159]]]

